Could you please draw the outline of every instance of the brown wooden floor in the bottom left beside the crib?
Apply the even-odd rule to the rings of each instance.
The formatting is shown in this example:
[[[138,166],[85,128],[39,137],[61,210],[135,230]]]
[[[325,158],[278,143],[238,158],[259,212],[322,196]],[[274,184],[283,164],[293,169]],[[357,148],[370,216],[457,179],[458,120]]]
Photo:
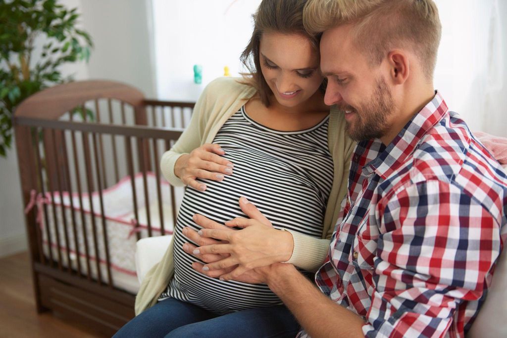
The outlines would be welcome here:
[[[28,252],[0,259],[0,337],[101,337],[57,314],[35,310]]]

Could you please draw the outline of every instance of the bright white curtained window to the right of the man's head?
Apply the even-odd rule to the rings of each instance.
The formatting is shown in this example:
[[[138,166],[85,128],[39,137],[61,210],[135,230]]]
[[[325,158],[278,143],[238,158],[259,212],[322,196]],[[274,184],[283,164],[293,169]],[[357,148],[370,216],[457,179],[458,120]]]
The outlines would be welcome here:
[[[434,85],[472,131],[507,136],[507,3],[436,0],[442,22]],[[503,21],[501,21],[503,20]]]

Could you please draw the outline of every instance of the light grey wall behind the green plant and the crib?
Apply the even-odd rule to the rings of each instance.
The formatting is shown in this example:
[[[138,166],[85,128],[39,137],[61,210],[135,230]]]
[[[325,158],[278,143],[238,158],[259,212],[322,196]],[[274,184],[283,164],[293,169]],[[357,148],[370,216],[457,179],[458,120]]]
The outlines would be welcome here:
[[[65,65],[76,79],[112,79],[129,83],[147,97],[156,96],[150,47],[151,4],[141,0],[60,0],[78,7],[81,25],[95,43],[89,64]],[[37,41],[40,46],[43,41]],[[0,257],[26,249],[19,171],[15,150],[0,158]]]

